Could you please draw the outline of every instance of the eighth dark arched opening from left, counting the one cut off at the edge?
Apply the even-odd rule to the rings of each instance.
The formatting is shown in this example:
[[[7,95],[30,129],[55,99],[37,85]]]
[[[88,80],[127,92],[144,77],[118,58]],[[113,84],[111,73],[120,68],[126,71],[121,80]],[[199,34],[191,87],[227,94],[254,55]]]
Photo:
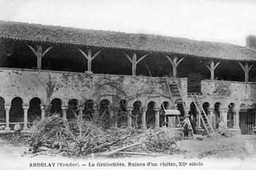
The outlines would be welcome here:
[[[117,127],[125,127],[128,124],[126,100],[120,100],[119,113],[117,115]]]

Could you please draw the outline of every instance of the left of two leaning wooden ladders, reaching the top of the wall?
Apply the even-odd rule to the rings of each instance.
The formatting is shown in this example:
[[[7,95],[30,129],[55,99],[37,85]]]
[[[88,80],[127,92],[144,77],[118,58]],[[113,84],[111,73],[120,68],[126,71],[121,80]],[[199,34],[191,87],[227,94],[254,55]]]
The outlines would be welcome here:
[[[175,95],[178,97],[178,101],[180,101],[180,102],[182,103],[182,106],[183,106],[184,111],[186,111],[186,106],[185,106],[185,104],[184,104],[184,102],[183,102],[183,100],[182,100],[182,96],[180,95],[180,88],[178,87],[178,84],[177,84],[176,82],[173,83],[173,84],[169,84],[169,83],[168,83],[168,80],[167,80],[167,86],[168,86],[169,94],[170,94],[170,97],[171,97],[171,100],[172,100],[173,104],[175,104],[175,100],[174,100],[173,93],[172,93],[172,91],[171,91],[171,87],[170,87],[170,86],[172,86],[172,88],[174,87],[174,88],[176,89]],[[178,120],[179,126],[180,126],[180,127],[183,127],[182,124],[181,124],[181,122],[180,122],[180,117],[179,117],[178,115],[177,115],[177,120]],[[192,126],[191,126],[190,121],[189,121],[189,126],[190,126],[190,128],[191,128],[192,136],[194,136],[194,131],[193,131],[193,129],[192,129]],[[182,133],[182,134],[183,134],[183,133]]]

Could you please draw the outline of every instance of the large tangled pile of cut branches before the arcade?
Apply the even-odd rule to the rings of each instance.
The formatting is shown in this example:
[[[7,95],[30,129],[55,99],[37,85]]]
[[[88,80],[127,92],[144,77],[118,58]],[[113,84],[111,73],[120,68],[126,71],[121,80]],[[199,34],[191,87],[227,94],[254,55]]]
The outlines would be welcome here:
[[[178,153],[176,142],[160,130],[103,129],[82,116],[63,120],[58,114],[39,120],[29,135],[31,153],[76,156],[111,156],[117,154],[154,155]]]

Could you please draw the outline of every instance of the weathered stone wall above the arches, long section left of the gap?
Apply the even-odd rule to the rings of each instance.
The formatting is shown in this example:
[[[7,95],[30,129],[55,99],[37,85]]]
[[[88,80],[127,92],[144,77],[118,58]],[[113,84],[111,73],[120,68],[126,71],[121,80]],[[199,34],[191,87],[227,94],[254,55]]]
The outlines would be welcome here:
[[[170,102],[167,81],[178,82],[182,97],[187,98],[186,78],[152,79],[143,76],[0,68],[0,79],[0,96],[9,104],[14,97],[21,97],[24,104],[29,104],[33,97],[39,97],[42,104],[60,98],[62,105],[67,105],[70,99],[83,104],[85,100],[100,102],[108,99],[112,102],[113,96],[116,96],[119,100],[126,100],[128,106],[133,106],[139,100],[143,106],[154,101],[156,107],[160,107],[163,101]]]

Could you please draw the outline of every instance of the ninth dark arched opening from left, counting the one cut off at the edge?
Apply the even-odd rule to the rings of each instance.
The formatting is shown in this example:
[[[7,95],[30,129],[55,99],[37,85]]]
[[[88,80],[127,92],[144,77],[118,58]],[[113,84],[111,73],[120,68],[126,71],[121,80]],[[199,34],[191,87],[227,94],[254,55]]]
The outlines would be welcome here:
[[[142,102],[136,101],[133,103],[133,126],[137,129],[142,127]]]

